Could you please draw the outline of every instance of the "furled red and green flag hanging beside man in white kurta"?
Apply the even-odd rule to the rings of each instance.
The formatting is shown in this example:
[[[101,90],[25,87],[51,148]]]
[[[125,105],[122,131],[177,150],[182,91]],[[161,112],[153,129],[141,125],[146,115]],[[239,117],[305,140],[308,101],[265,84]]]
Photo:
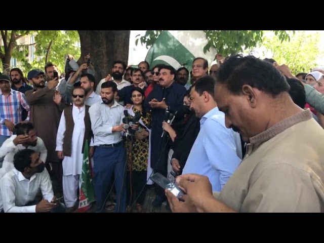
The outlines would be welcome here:
[[[81,175],[81,187],[79,195],[79,207],[77,209],[78,213],[86,212],[91,207],[95,198],[95,188],[93,185],[92,175],[91,175],[91,165],[89,164],[89,143],[86,139],[83,152],[83,165],[82,165],[82,175]]]

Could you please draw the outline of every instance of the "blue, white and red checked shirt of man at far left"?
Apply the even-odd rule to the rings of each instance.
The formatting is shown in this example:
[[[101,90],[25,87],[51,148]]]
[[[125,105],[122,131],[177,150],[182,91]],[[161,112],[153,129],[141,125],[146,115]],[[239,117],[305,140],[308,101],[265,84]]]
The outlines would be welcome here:
[[[5,120],[10,120],[15,125],[20,123],[22,121],[21,107],[25,108],[28,112],[26,120],[29,120],[30,108],[25,95],[19,91],[11,89],[10,94],[5,96],[0,90],[0,135],[13,135],[13,132],[10,132],[6,127]]]

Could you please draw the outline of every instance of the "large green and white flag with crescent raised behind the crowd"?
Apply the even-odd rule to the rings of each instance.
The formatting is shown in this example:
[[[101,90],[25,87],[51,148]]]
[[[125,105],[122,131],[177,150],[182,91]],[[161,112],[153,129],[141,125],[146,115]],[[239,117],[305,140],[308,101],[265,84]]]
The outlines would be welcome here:
[[[145,60],[151,68],[157,64],[167,64],[176,70],[185,67],[190,72],[192,61],[196,57],[206,58],[209,65],[213,62],[216,51],[211,48],[204,54],[206,45],[207,39],[203,30],[165,30],[148,50]]]

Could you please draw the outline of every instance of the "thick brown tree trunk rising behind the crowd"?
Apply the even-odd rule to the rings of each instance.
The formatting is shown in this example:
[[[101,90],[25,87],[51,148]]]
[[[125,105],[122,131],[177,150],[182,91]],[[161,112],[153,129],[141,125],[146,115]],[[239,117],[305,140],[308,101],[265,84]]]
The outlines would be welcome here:
[[[116,60],[128,62],[130,30],[78,30],[81,56],[78,64],[84,63],[84,57],[90,54],[96,71],[96,83],[111,74],[112,64]]]

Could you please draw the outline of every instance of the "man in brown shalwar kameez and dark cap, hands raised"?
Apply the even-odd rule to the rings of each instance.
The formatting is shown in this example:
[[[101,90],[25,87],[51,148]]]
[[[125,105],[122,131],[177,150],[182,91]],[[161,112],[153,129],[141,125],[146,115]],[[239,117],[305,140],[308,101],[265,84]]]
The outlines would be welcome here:
[[[55,177],[58,191],[62,191],[62,160],[57,156],[56,134],[60,123],[61,113],[66,107],[61,103],[61,95],[56,91],[58,78],[49,80],[45,86],[44,71],[33,69],[28,72],[28,80],[34,86],[33,90],[25,93],[30,105],[30,121],[33,123],[37,136],[42,138],[47,148],[46,168]],[[52,170],[51,170],[52,167]]]

